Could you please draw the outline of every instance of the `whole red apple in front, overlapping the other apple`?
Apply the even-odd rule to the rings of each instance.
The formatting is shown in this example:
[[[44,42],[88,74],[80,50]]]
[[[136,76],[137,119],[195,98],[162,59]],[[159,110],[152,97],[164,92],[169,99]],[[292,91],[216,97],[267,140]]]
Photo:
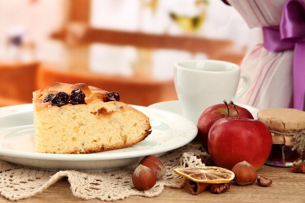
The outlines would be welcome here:
[[[221,118],[210,129],[208,147],[216,166],[232,169],[235,164],[247,161],[259,169],[270,154],[272,136],[261,121]]]

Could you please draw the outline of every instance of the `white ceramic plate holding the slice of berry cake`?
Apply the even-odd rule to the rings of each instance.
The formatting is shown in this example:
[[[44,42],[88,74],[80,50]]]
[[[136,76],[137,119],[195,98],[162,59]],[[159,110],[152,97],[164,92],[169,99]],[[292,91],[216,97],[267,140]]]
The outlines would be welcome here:
[[[152,133],[129,148],[92,154],[36,153],[32,104],[0,108],[0,159],[44,170],[111,170],[137,163],[146,155],[158,156],[182,147],[197,134],[197,127],[180,115],[142,106],[133,107],[149,116]]]

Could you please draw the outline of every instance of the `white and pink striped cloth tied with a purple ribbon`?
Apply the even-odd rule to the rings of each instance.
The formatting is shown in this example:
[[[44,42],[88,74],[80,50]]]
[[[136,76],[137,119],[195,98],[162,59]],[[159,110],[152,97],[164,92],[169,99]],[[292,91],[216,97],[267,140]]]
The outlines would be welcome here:
[[[280,24],[286,0],[228,0],[250,28]],[[251,40],[251,39],[249,39]],[[237,102],[257,107],[292,107],[293,51],[270,52],[262,44],[249,50],[241,70],[251,78],[248,91]],[[241,84],[242,85],[242,84]]]

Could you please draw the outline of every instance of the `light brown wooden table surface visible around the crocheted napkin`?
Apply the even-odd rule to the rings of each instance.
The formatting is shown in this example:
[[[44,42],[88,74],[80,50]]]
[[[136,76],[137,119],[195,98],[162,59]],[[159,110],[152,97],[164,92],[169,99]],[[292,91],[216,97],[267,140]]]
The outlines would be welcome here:
[[[198,195],[191,195],[189,188],[165,188],[163,192],[152,198],[131,196],[122,203],[305,203],[305,174],[294,173],[288,168],[263,166],[257,171],[258,175],[266,176],[273,181],[269,187],[263,187],[256,183],[239,186],[232,183],[229,192],[223,194],[211,194],[204,191]],[[0,203],[8,203],[9,200],[0,198]],[[23,200],[20,203],[98,203],[100,200],[88,200],[73,196],[67,179],[62,179],[50,186],[44,192]]]

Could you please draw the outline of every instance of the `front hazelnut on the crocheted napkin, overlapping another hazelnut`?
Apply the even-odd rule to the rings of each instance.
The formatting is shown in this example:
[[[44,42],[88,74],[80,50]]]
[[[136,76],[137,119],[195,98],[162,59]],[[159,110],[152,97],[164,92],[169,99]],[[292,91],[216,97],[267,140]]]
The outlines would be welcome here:
[[[156,175],[148,167],[139,165],[133,171],[133,185],[138,190],[148,190],[156,184]]]

